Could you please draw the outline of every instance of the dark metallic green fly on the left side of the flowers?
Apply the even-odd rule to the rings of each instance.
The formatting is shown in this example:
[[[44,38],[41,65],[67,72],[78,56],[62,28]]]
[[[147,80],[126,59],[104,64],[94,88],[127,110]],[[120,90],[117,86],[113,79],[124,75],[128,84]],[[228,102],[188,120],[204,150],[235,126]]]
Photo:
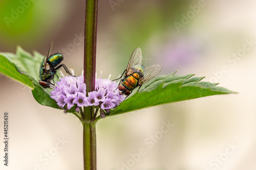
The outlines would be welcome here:
[[[63,67],[65,71],[73,76],[67,66],[65,64],[60,64],[57,66],[62,60],[63,60],[63,55],[62,54],[53,54],[50,56],[51,51],[52,51],[52,45],[53,42],[51,42],[48,54],[44,60],[42,60],[40,69],[39,69],[39,84],[44,87],[44,88],[55,88],[55,83],[54,83],[54,75],[56,74],[56,70],[59,69],[60,67]],[[57,76],[57,75],[56,75]],[[53,83],[50,82],[53,80]]]

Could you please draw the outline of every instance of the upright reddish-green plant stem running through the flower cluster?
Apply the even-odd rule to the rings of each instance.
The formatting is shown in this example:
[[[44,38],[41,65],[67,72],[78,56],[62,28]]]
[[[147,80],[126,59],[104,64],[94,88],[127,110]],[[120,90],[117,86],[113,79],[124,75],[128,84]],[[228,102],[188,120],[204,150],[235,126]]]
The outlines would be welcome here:
[[[98,0],[86,0],[84,23],[84,83],[87,93],[95,90],[96,40]],[[83,164],[84,170],[96,170],[96,129],[94,108],[83,108]]]

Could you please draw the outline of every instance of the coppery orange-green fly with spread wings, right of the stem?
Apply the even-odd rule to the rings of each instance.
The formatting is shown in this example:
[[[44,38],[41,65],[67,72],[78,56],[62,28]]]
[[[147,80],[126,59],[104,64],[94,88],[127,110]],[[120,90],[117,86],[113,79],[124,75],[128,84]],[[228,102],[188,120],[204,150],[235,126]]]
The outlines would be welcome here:
[[[159,74],[161,69],[162,66],[159,64],[144,68],[144,66],[142,66],[142,53],[140,48],[138,47],[134,50],[127,65],[127,68],[123,71],[123,74],[125,72],[124,77],[122,78],[123,74],[120,77],[122,78],[120,81],[121,85],[119,83],[118,89],[122,91],[122,94],[128,96],[136,87],[139,87],[140,89],[142,84],[146,83],[147,81],[155,77],[157,74]]]

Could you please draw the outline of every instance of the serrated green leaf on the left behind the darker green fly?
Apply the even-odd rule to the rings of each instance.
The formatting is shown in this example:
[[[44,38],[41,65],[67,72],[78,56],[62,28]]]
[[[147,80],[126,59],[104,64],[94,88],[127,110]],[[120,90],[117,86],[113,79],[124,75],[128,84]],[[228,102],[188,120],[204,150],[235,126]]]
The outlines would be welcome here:
[[[1,53],[0,72],[20,83],[32,88],[35,100],[45,106],[60,109],[56,102],[50,97],[51,89],[44,89],[39,85],[39,68],[44,56],[34,52],[34,56],[17,47],[16,54]],[[59,81],[55,76],[54,81]]]

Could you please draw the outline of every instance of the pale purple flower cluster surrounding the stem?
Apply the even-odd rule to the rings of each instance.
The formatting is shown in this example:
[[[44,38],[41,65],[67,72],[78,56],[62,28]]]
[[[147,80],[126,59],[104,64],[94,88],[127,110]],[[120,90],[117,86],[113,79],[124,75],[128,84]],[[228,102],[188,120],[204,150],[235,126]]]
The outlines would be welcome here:
[[[66,76],[56,83],[56,88],[51,91],[51,98],[63,109],[70,110],[75,106],[78,112],[80,107],[95,106],[108,111],[125,99],[124,95],[119,94],[116,82],[101,77],[95,80],[95,91],[89,92],[88,95],[82,76]]]

